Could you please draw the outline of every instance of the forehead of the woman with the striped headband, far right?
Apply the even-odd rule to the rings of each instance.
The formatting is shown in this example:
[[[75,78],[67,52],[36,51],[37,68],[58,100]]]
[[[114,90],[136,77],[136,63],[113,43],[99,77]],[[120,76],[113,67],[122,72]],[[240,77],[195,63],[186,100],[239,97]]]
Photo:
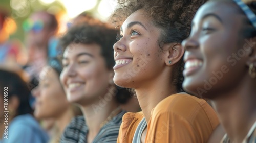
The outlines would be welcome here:
[[[232,1],[210,1],[200,7],[193,22],[202,20],[203,17],[208,14],[217,15],[224,25],[230,26],[246,18],[245,15],[240,12],[239,7]]]

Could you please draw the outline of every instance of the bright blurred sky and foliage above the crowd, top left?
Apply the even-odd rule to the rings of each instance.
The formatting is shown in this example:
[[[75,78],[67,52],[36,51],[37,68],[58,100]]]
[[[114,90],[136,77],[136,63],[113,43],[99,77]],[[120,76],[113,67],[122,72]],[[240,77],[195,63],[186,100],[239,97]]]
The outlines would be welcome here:
[[[0,9],[9,14],[10,39],[24,39],[22,23],[35,11],[47,10],[55,14],[64,30],[66,23],[82,12],[106,21],[116,6],[117,0],[1,0]]]

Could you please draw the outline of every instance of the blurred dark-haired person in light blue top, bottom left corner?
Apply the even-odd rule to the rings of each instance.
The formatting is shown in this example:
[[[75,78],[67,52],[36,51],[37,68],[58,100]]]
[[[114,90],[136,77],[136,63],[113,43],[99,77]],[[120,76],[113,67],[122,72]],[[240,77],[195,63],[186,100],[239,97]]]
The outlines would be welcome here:
[[[5,95],[4,89],[8,88],[8,105],[4,107]],[[32,109],[29,105],[30,91],[24,80],[16,73],[0,69],[0,111],[1,124],[0,135],[2,143],[45,143],[48,141],[48,135],[39,123],[32,116]],[[6,93],[5,93],[6,94]],[[7,108],[7,109],[6,109]],[[3,111],[8,112],[8,125],[4,124],[6,118]],[[3,134],[5,126],[8,126],[7,134]]]

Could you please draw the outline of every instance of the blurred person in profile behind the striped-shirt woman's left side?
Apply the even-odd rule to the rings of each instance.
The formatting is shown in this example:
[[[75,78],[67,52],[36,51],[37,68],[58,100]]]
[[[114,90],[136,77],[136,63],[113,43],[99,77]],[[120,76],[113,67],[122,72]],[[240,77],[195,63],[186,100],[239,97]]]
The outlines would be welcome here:
[[[67,101],[59,81],[61,70],[61,62],[57,58],[50,58],[40,72],[38,87],[32,90],[36,98],[34,116],[45,124],[54,121],[50,142],[59,142],[60,135],[71,119],[82,114],[79,107]]]

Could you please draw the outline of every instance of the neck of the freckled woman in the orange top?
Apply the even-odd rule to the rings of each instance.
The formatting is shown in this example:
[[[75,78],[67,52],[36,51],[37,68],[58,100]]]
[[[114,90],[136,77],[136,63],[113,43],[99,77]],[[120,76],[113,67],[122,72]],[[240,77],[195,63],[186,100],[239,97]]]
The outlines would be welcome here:
[[[166,73],[169,74],[170,71],[166,70]],[[155,108],[160,101],[172,94],[178,93],[176,88],[170,83],[169,76],[166,77],[164,75],[166,74],[161,74],[156,77],[155,80],[144,82],[141,87],[135,88],[146,122],[150,120],[152,109]]]

